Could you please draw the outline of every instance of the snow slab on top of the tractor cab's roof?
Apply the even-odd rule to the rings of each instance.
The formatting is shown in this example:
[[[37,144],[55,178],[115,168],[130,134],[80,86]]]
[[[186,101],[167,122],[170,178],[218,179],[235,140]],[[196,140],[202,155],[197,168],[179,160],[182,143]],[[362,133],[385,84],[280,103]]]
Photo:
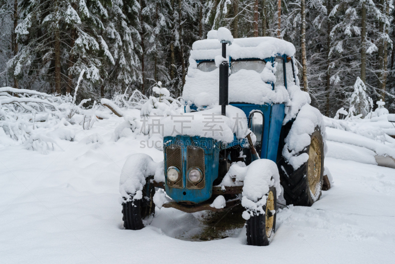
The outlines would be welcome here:
[[[221,48],[222,45],[218,39],[196,41],[192,44],[191,58],[194,60],[214,59],[215,56],[222,54]],[[232,45],[227,46],[227,56],[231,56],[233,59],[266,59],[276,54],[293,56],[295,46],[287,41],[272,37],[234,39]]]

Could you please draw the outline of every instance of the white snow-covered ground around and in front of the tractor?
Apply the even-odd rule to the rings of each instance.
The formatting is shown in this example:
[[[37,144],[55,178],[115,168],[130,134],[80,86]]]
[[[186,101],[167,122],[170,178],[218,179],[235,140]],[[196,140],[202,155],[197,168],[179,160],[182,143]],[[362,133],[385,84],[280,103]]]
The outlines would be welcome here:
[[[395,170],[376,165],[373,139],[328,127],[325,166],[333,187],[310,208],[280,210],[271,244],[254,247],[246,245],[245,227],[195,241],[198,215],[175,209],[157,208],[142,230],[123,229],[119,176],[126,158],[146,153],[159,162],[163,153],[141,148],[148,139],[142,134],[115,141],[122,122],[111,115],[90,130],[67,126],[74,141],[56,139],[47,155],[0,135],[0,263],[395,262]],[[388,142],[385,148],[395,151]]]

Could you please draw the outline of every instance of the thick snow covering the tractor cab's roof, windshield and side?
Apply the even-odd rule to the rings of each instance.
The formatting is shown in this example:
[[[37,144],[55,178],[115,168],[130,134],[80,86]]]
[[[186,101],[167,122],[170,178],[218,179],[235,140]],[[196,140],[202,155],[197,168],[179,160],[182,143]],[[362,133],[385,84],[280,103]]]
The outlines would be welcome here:
[[[216,31],[210,31],[209,37],[214,38]],[[215,36],[214,36],[215,35]],[[188,74],[183,88],[183,99],[197,107],[218,105],[219,97],[219,69],[211,72],[203,72],[197,69],[197,60],[214,59],[221,55],[221,43],[218,39],[197,41],[192,46],[189,59]],[[260,58],[265,59],[276,54],[292,56],[295,53],[293,44],[271,38],[244,38],[235,39],[231,46],[227,47],[227,55],[232,58]],[[307,92],[299,87],[298,70],[295,67],[296,83],[288,83],[288,90],[280,84],[272,85],[267,82],[276,82],[274,72],[276,64],[266,63],[262,73],[254,70],[241,69],[229,76],[229,102],[243,102],[253,104],[285,103],[284,124],[294,118],[299,109],[311,99]],[[292,66],[286,63],[287,80],[293,79]]]

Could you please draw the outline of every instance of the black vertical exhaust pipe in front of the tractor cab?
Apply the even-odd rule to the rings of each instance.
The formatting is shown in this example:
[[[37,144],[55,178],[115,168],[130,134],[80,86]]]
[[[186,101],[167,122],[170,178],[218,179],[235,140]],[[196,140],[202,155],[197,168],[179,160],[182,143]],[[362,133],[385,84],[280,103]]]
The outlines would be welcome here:
[[[226,59],[226,44],[229,41],[221,41],[222,57]],[[224,60],[219,65],[219,104],[221,105],[221,114],[226,115],[226,106],[229,104],[229,62]]]

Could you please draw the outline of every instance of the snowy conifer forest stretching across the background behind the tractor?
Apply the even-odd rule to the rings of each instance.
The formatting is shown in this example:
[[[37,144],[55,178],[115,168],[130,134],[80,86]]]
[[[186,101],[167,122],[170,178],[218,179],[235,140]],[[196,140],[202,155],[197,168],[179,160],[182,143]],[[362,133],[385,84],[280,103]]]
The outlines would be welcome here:
[[[74,94],[83,72],[78,101],[149,95],[159,81],[177,97],[192,44],[227,27],[293,43],[301,88],[326,116],[357,89],[394,113],[393,17],[389,0],[0,0],[0,84]]]

